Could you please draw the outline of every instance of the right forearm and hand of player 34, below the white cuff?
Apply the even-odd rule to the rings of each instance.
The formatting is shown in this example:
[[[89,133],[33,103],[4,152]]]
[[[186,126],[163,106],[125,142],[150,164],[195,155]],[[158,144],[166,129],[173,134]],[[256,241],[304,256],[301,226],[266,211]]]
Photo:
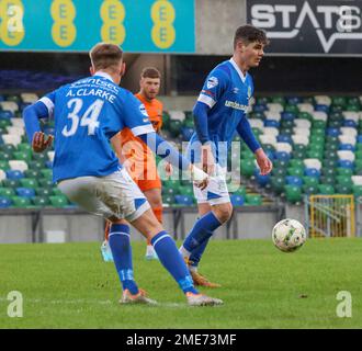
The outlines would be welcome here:
[[[184,158],[174,147],[167,143],[157,133],[140,134],[138,137],[147,144],[147,146],[158,156],[165,158],[174,167],[181,170],[190,171],[191,179],[195,182],[196,186],[205,189],[208,183],[208,176],[192,165],[186,158]]]

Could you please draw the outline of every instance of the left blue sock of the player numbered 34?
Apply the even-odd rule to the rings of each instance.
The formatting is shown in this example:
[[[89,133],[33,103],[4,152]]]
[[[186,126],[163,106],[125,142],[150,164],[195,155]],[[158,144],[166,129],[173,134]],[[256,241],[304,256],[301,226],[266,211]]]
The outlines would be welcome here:
[[[137,294],[138,286],[133,276],[129,226],[112,224],[109,242],[123,290],[127,288],[131,294]]]

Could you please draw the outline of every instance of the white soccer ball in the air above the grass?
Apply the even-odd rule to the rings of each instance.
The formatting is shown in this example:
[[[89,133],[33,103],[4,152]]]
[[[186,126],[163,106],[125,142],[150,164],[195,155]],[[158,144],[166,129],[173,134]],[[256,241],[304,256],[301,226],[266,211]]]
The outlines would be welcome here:
[[[304,245],[307,235],[302,223],[286,218],[275,224],[272,239],[275,247],[281,251],[293,252]]]

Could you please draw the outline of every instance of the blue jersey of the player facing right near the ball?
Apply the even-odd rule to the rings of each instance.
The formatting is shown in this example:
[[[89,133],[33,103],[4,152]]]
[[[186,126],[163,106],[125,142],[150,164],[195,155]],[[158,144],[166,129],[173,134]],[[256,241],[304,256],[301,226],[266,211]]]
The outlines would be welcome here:
[[[208,136],[216,146],[214,151],[217,161],[219,149],[227,150],[230,147],[236,127],[246,115],[252,94],[251,76],[248,72],[244,75],[233,58],[216,66],[207,76],[197,102],[211,109],[207,114]],[[194,133],[188,147],[188,157],[192,161],[199,161],[199,148],[197,134]]]

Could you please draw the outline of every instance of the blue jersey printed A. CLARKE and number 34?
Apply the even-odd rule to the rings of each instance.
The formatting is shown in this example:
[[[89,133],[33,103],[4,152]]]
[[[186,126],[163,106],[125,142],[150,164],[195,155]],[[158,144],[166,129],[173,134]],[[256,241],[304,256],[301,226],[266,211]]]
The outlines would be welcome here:
[[[104,72],[60,87],[39,101],[55,121],[54,182],[115,172],[120,165],[110,139],[124,127],[135,136],[154,132],[139,100]]]

